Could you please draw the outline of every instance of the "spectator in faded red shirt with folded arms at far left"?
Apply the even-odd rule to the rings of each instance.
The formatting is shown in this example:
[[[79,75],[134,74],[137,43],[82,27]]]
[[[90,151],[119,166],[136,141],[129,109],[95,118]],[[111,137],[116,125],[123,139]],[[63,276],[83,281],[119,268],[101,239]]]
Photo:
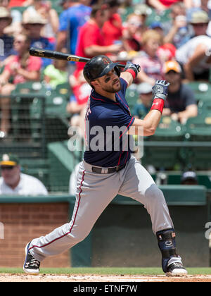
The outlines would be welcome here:
[[[14,39],[14,49],[18,53],[11,56],[0,75],[0,94],[8,97],[1,98],[0,137],[6,137],[10,129],[10,94],[18,83],[39,80],[41,58],[30,56],[30,39],[25,34],[19,34]],[[13,77],[13,83],[8,82]]]

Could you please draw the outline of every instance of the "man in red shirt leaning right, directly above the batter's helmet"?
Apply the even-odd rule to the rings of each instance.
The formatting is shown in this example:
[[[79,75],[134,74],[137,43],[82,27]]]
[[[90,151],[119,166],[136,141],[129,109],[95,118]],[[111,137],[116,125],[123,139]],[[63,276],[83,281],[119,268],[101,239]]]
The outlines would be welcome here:
[[[113,59],[116,58],[121,48],[121,44],[105,44],[105,38],[101,33],[103,24],[108,20],[109,9],[108,6],[96,5],[92,7],[90,19],[79,30],[79,37],[77,41],[77,56],[84,56],[92,58],[99,54],[114,54]],[[82,70],[85,63],[77,63],[77,70]]]

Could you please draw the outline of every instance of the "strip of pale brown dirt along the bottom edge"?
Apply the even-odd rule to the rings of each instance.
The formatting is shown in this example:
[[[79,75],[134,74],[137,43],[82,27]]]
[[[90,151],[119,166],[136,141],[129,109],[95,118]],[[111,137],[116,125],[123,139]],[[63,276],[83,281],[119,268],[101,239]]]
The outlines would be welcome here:
[[[65,275],[39,274],[28,276],[23,273],[1,273],[0,282],[211,282],[211,275],[190,275],[183,277],[167,276],[110,276],[110,275]]]

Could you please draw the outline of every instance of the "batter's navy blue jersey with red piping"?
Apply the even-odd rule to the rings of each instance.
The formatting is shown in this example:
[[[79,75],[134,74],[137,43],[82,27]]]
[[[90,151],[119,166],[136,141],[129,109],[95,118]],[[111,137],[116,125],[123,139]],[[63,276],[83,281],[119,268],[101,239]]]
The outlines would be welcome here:
[[[120,78],[122,89],[115,94],[116,101],[91,91],[85,118],[87,142],[84,161],[95,166],[125,164],[131,154],[132,136],[127,130],[134,123],[125,99],[127,82]]]

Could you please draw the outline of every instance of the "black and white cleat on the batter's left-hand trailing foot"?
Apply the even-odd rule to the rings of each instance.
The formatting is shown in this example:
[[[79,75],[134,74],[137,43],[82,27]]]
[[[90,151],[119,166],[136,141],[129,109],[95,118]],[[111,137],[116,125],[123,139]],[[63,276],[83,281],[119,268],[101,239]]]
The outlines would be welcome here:
[[[25,262],[23,264],[23,270],[25,273],[37,275],[39,273],[40,262],[30,254],[29,247],[30,242],[25,247]]]

